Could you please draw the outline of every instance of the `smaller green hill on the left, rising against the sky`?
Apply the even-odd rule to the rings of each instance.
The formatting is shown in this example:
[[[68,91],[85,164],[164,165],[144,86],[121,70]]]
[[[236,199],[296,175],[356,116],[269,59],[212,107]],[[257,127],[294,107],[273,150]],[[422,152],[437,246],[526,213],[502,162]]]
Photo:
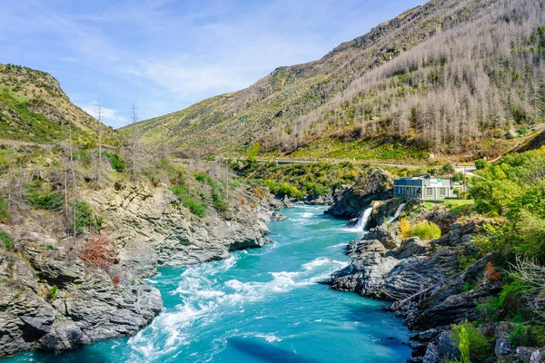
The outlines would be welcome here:
[[[67,138],[67,122],[74,126],[74,142],[96,143],[98,125],[92,116],[70,102],[51,74],[0,64],[0,138],[25,142],[59,142]],[[115,144],[119,135],[102,127],[103,142]]]

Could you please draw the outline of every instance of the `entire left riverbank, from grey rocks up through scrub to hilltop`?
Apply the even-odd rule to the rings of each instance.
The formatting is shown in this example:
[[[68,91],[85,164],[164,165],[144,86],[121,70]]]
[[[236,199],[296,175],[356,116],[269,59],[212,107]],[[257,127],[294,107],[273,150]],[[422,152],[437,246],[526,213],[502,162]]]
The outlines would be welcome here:
[[[158,267],[269,241],[283,204],[266,190],[219,162],[143,152],[49,74],[0,71],[0,357],[134,335],[163,309],[144,281]]]

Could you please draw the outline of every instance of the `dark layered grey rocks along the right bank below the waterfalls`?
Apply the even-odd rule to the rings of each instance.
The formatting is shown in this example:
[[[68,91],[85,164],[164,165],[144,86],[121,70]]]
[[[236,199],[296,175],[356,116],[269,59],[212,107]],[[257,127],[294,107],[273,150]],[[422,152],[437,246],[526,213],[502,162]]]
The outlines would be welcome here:
[[[440,224],[450,220],[438,208],[421,209],[411,217],[411,222],[417,221]],[[463,260],[476,251],[472,237],[481,231],[484,222],[453,222],[450,231],[437,240],[403,239],[399,222],[381,224],[362,240],[350,242],[347,254],[352,262],[332,275],[332,289],[393,301],[390,309],[416,331],[411,336],[409,362],[460,359],[458,343],[451,338],[451,324],[481,318],[478,306],[497,296],[501,289],[501,280],[490,279],[487,270],[487,264],[497,256],[489,253],[479,260]],[[494,352],[487,361],[543,361],[540,359],[545,349],[511,346],[509,336],[514,324],[480,329],[487,330],[485,335],[494,339]]]

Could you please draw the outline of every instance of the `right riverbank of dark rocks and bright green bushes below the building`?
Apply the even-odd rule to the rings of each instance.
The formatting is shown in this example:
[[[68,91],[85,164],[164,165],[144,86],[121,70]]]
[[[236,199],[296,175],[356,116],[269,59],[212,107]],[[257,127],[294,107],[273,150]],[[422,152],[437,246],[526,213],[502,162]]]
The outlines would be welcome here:
[[[330,212],[358,217],[371,205],[370,230],[350,243],[352,264],[330,283],[393,301],[390,309],[421,331],[411,337],[411,361],[540,362],[545,146],[477,164],[467,202],[391,200],[369,176],[344,191]]]

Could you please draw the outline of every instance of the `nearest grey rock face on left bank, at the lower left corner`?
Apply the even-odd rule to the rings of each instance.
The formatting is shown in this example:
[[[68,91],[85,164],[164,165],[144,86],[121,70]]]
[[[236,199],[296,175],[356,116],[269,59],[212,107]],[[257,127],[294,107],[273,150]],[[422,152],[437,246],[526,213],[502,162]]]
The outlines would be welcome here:
[[[16,227],[2,230],[15,250],[0,254],[0,357],[131,335],[162,310],[159,290],[140,279],[130,283],[129,276],[114,284],[104,270],[85,266],[69,243]]]

